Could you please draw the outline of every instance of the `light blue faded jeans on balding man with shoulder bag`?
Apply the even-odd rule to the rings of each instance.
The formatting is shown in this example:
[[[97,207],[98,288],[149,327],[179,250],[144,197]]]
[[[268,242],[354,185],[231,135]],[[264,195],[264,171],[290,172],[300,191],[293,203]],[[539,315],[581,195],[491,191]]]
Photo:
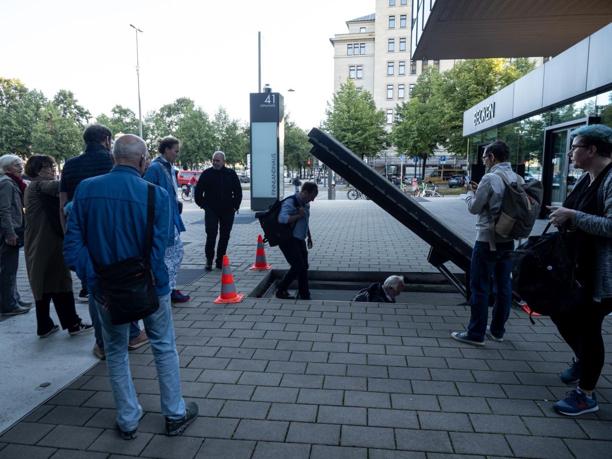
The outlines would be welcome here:
[[[108,311],[103,308],[103,300],[97,297],[95,304],[102,324],[108,379],[117,408],[117,425],[124,431],[134,430],[138,427],[143,409],[138,404],[130,373],[127,353],[130,324],[111,324]],[[159,297],[159,309],[144,318],[143,322],[155,357],[162,414],[170,419],[181,419],[185,415],[185,402],[181,396],[179,356],[174,345],[170,293]]]

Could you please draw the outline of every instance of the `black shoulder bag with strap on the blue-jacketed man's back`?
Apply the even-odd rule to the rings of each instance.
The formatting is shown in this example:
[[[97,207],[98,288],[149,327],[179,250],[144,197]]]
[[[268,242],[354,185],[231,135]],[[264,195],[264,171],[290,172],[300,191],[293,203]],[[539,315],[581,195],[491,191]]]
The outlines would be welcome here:
[[[144,319],[159,309],[155,278],[149,263],[153,242],[155,186],[147,183],[147,229],[144,256],[133,256],[97,269],[113,325]]]

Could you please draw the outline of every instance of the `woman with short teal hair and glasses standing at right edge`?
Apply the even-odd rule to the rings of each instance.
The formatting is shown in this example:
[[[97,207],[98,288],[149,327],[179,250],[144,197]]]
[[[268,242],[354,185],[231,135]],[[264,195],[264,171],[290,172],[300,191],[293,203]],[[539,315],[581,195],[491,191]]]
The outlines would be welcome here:
[[[561,379],[578,383],[553,408],[577,416],[599,409],[594,389],[605,356],[602,323],[612,312],[612,129],[601,124],[584,126],[571,133],[570,141],[567,155],[573,167],[585,173],[563,206],[548,209],[553,211],[553,225],[567,230],[565,241],[577,259],[574,274],[583,286],[584,300],[571,313],[551,316],[575,354]]]

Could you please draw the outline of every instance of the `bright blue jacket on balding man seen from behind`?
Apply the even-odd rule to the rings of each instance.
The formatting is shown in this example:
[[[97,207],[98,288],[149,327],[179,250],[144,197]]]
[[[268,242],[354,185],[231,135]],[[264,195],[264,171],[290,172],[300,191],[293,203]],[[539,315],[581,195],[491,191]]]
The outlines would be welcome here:
[[[170,292],[164,262],[171,227],[168,193],[155,187],[155,218],[151,269],[158,295]],[[96,266],[144,255],[147,184],[129,166],[92,177],[76,188],[64,237],[64,259],[93,291],[100,291]]]

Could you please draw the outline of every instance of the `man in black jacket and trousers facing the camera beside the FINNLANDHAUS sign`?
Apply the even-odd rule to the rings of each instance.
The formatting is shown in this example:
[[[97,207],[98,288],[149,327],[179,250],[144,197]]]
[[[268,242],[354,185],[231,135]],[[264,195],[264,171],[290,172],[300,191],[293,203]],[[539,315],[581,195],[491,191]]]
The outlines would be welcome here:
[[[215,151],[212,155],[212,167],[200,175],[195,187],[195,203],[205,212],[206,269],[212,269],[217,233],[220,234],[215,264],[221,269],[234,225],[234,214],[239,211],[241,202],[242,187],[236,171],[225,167],[225,153]]]

